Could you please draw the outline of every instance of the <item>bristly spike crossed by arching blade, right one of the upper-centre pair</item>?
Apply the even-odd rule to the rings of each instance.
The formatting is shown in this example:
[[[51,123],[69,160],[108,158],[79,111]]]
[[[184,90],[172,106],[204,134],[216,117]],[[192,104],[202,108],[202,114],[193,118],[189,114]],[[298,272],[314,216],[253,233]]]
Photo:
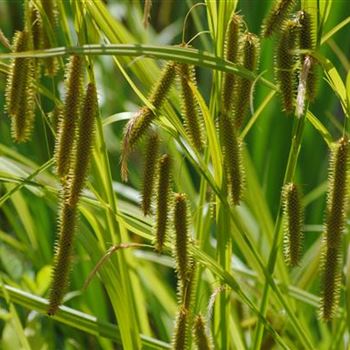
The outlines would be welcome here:
[[[242,38],[242,65],[244,68],[255,71],[259,62],[259,39],[252,33],[246,33]],[[235,84],[233,109],[235,126],[239,129],[247,114],[253,81],[240,77]]]

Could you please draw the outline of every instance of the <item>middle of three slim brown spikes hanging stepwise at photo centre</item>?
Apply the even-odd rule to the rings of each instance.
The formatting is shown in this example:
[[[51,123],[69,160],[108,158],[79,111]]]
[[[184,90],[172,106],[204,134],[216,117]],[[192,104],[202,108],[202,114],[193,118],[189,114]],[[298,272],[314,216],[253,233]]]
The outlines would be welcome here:
[[[164,154],[159,160],[156,200],[155,250],[162,252],[168,228],[170,207],[171,158]]]

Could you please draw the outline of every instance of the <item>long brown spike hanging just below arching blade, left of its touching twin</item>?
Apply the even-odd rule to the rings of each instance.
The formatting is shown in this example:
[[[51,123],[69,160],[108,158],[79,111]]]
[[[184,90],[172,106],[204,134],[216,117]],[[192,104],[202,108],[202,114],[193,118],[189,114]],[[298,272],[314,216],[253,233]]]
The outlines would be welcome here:
[[[66,73],[66,98],[62,118],[58,123],[55,156],[57,174],[64,178],[71,165],[76,123],[80,116],[83,85],[83,58],[72,56]]]

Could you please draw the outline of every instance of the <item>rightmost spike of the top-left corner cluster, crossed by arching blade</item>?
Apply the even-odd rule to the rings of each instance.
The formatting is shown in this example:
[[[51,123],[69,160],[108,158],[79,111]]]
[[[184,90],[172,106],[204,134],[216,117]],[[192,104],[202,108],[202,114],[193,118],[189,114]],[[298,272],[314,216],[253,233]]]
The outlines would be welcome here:
[[[55,30],[57,26],[57,18],[58,18],[57,2],[56,0],[42,0],[41,4],[45,12],[47,22],[51,26],[52,34],[55,34]],[[49,49],[52,47],[52,44],[50,42],[50,37],[47,32],[44,32],[44,35],[43,35],[43,46],[44,46],[44,49]],[[58,58],[47,57],[45,58],[44,62],[46,67],[45,74],[48,75],[49,77],[55,76],[59,69]]]

